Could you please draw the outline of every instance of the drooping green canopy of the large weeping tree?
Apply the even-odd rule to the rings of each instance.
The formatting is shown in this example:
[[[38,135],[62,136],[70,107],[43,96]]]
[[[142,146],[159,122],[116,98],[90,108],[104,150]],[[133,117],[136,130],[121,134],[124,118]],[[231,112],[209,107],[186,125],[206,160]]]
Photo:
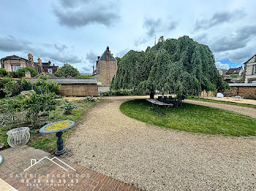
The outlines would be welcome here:
[[[146,52],[129,51],[118,62],[111,88],[195,95],[201,90],[223,91],[227,83],[222,81],[208,46],[182,36],[161,40]]]

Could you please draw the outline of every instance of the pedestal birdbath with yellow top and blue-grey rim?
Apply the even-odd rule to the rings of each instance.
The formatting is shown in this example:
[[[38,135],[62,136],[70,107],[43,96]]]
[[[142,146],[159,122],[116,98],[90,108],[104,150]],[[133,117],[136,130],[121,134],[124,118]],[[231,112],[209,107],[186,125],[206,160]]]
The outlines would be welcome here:
[[[63,130],[72,128],[75,125],[73,121],[58,121],[53,122],[40,128],[39,133],[56,133],[57,139],[57,151],[55,155],[63,155],[66,149],[63,147],[63,139],[61,138]]]

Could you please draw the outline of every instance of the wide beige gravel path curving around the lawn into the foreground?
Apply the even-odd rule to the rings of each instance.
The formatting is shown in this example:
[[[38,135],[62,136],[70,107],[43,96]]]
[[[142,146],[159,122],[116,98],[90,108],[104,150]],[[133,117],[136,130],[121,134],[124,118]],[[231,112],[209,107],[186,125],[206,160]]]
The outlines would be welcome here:
[[[255,138],[148,125],[119,111],[131,98],[91,109],[69,136],[67,157],[147,190],[256,190]]]

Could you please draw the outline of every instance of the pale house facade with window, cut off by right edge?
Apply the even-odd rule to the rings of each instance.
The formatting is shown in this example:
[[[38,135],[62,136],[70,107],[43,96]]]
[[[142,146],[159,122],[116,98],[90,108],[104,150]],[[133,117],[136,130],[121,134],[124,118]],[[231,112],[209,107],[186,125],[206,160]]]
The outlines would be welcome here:
[[[256,55],[244,63],[244,83],[256,83]]]

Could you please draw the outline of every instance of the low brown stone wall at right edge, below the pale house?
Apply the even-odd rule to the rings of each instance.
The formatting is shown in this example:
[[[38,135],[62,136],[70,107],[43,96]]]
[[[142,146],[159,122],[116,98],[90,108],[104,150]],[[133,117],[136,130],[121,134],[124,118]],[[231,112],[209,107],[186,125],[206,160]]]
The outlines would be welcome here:
[[[247,99],[256,99],[256,86],[233,86],[224,93],[225,96],[240,95]]]

